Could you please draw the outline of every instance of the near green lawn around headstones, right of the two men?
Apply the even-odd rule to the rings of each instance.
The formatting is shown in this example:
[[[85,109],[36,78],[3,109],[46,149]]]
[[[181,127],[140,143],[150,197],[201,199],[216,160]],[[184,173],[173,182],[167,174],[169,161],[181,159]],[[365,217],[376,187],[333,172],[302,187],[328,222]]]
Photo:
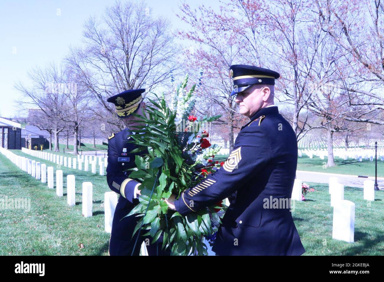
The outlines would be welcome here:
[[[363,200],[362,188],[344,187],[344,200],[355,206],[354,243],[332,239],[333,208],[328,184],[306,182],[314,188],[306,201],[295,201],[292,217],[306,250],[312,256],[382,256],[384,254],[384,191],[375,201]]]

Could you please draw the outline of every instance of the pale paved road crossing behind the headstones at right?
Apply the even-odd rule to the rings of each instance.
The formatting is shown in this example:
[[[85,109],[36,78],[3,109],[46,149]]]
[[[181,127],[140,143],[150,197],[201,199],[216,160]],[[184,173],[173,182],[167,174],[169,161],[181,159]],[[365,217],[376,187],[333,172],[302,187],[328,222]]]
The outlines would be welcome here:
[[[305,172],[303,170],[296,171],[296,178],[301,181],[317,182],[317,183],[329,183],[329,177],[335,176],[339,178],[339,183],[344,186],[351,187],[364,187],[364,180],[373,180],[374,177],[358,177],[357,175],[345,175],[345,174],[335,174],[335,173],[324,173],[324,172]],[[379,188],[384,189],[384,178],[377,177],[377,184]]]

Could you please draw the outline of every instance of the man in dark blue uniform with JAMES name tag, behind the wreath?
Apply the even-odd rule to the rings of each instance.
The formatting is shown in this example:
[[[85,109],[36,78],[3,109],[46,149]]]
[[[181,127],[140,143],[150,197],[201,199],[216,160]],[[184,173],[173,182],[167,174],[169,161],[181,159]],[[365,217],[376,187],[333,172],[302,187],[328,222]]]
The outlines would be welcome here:
[[[145,104],[142,102],[143,97],[141,95],[144,91],[145,89],[127,90],[107,99],[107,102],[115,105],[118,117],[123,119],[124,124],[127,126],[126,129],[116,134],[111,134],[108,137],[107,182],[112,191],[120,194],[113,216],[111,238],[109,239],[109,254],[111,256],[130,256],[138,234],[136,232],[132,238],[132,233],[137,224],[137,217],[134,215],[125,216],[139,203],[137,200],[137,197],[140,195],[140,191],[137,189],[139,185],[132,185],[132,181],[129,178],[130,172],[126,170],[136,166],[136,154],[130,152],[137,148],[137,146],[128,142],[131,138],[130,136],[134,134],[129,129],[137,129],[135,125],[140,125],[135,121],[137,118],[132,113],[144,115],[142,109]],[[139,255],[140,247],[144,240],[152,242],[150,236],[140,236],[134,255]],[[161,249],[162,238],[159,238],[157,243],[153,245],[146,245],[149,255],[169,255],[169,251]]]

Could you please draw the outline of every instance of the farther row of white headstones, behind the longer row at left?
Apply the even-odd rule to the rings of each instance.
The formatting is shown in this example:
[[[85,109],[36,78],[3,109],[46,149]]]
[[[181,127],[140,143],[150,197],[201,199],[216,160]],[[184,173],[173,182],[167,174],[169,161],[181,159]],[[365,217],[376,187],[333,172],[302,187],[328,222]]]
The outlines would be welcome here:
[[[77,167],[79,170],[83,170],[83,163],[84,163],[84,171],[86,172],[89,171],[89,163],[91,163],[91,171],[92,173],[96,173],[96,164],[97,164],[96,156],[89,156],[89,160],[88,160],[88,156],[78,155],[76,160],[76,158],[74,157],[67,158],[67,157],[63,157],[53,153],[40,152],[40,151],[30,150],[26,148],[22,148],[22,152],[32,155],[34,157],[43,158],[44,160],[48,160],[50,162],[54,162],[58,165],[63,165],[68,168],[76,169]],[[99,174],[104,175],[104,168],[107,167],[108,165],[108,158],[104,158],[103,160],[102,157],[99,157],[98,159],[99,159]]]

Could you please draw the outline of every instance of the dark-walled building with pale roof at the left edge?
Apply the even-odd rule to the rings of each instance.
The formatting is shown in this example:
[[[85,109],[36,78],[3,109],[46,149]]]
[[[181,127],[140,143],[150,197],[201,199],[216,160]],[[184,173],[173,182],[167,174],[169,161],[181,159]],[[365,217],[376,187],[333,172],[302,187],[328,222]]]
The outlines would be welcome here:
[[[21,150],[21,124],[0,117],[0,145],[9,150]]]

